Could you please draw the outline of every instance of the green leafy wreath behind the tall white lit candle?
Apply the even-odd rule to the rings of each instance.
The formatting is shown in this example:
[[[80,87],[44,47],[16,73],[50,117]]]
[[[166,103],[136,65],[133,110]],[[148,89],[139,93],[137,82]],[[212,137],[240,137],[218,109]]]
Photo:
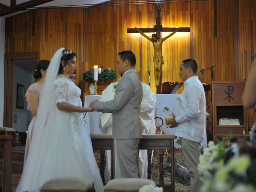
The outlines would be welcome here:
[[[98,74],[98,82],[111,81],[117,78],[117,72],[115,70],[104,69],[101,74]],[[83,74],[83,80],[89,83],[93,83],[93,71],[86,71]]]

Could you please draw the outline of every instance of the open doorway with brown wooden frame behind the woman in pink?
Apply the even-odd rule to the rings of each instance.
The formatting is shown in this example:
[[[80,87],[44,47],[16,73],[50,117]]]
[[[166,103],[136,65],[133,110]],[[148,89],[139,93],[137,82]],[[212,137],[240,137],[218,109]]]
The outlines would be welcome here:
[[[32,119],[25,95],[37,62],[37,52],[6,54],[4,60],[4,126],[24,134]]]

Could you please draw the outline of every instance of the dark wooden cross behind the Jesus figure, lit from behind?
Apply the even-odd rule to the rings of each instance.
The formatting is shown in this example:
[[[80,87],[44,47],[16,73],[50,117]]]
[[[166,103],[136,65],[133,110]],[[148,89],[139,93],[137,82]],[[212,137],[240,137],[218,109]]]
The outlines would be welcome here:
[[[161,17],[161,10],[162,6],[160,3],[156,3],[156,8],[158,10],[158,16],[156,16],[156,25],[154,25],[154,28],[140,28],[140,31],[143,33],[148,33],[148,32],[156,32],[156,35],[161,38],[161,32],[174,32],[176,28],[171,28],[171,27],[163,27],[162,26],[162,17]],[[190,27],[181,27],[178,32],[190,32]],[[135,28],[128,28],[127,33],[138,33]],[[150,70],[150,69],[148,69]],[[157,89],[157,93],[162,92],[162,66],[161,66],[161,82],[159,84],[160,89]],[[160,90],[160,92],[158,91]]]

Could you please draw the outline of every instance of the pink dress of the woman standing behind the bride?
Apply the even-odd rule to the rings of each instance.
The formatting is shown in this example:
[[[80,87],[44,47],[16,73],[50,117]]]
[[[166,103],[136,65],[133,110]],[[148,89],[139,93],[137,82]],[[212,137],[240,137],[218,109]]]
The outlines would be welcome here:
[[[42,95],[42,87],[37,83],[33,83],[32,85],[29,86],[29,88],[26,92],[26,98],[27,98],[27,102],[28,102],[27,109],[31,111],[31,105],[30,105],[30,101],[29,101],[29,92],[30,91],[36,91],[36,93],[39,95],[39,100],[40,100],[41,95]],[[25,155],[24,155],[24,165],[25,165],[26,159],[28,157],[28,151],[29,151],[30,143],[31,143],[32,136],[33,136],[35,122],[36,122],[36,117],[34,116],[28,126],[28,134],[27,134],[26,148],[25,148]]]

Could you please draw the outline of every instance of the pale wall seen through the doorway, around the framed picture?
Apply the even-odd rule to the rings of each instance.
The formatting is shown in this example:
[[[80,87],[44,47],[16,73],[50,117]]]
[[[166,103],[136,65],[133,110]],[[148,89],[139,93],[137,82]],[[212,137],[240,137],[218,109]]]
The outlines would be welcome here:
[[[12,123],[12,128],[14,128],[18,132],[26,132],[28,128],[28,121],[32,119],[31,112],[27,110],[27,102],[26,102],[26,92],[28,87],[33,83],[32,82],[32,74],[18,68],[14,65],[13,68],[13,106],[12,106],[12,114],[17,115],[17,122]],[[33,79],[34,80],[34,79]],[[24,109],[16,108],[16,97],[17,97],[17,83],[24,85]]]

